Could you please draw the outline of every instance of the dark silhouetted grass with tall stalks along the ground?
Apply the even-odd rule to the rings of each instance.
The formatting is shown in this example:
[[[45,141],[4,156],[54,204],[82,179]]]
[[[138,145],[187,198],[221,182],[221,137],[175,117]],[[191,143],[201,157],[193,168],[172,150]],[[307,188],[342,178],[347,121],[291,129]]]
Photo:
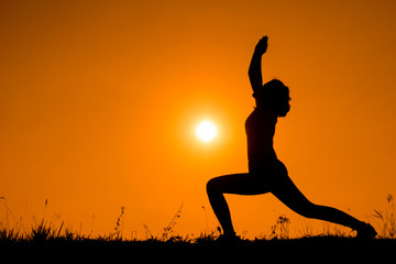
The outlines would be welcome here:
[[[301,231],[300,238],[289,238],[290,220],[286,215],[278,217],[274,226],[271,228],[271,233],[266,237],[256,238],[254,240],[242,239],[233,245],[243,248],[267,248],[267,246],[316,246],[316,248],[334,248],[334,246],[387,246],[396,248],[396,218],[395,204],[391,195],[387,196],[388,208],[386,211],[374,210],[373,219],[377,227],[381,227],[378,235],[372,241],[362,242],[346,233],[343,229],[331,230],[330,226],[323,230],[319,235],[312,235],[309,231]],[[47,201],[45,201],[45,207]],[[57,228],[52,222],[47,222],[44,217],[40,222],[35,222],[30,229],[6,228],[0,223],[0,246],[84,246],[84,248],[106,248],[118,246],[128,249],[142,248],[212,248],[223,245],[217,238],[221,234],[221,229],[201,232],[198,237],[194,235],[178,235],[174,233],[174,228],[177,224],[177,219],[183,212],[183,204],[170,220],[170,222],[163,229],[158,235],[153,235],[147,226],[144,224],[146,239],[124,239],[123,238],[123,213],[124,208],[121,208],[120,216],[117,218],[116,227],[112,232],[107,235],[99,235],[91,238],[89,234],[82,234],[80,231],[75,231],[72,228],[65,228],[64,222]]]

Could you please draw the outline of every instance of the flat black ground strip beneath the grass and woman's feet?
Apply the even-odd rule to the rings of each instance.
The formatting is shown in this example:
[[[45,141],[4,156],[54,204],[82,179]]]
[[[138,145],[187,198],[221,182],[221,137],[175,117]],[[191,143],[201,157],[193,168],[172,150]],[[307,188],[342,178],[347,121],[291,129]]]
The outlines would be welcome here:
[[[237,243],[217,241],[180,242],[146,241],[18,241],[0,242],[3,260],[96,262],[128,260],[131,262],[290,262],[337,263],[395,262],[396,240],[360,241],[338,237],[312,237],[290,240],[242,240]],[[7,255],[10,258],[7,258]],[[237,261],[235,261],[237,260]],[[107,261],[106,261],[107,262]]]

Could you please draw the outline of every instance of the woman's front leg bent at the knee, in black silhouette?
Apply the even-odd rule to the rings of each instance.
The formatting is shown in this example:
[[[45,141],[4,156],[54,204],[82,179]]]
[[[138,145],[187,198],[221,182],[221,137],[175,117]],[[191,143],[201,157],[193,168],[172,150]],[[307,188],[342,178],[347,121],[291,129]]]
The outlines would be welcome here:
[[[232,174],[212,178],[207,184],[207,191],[210,205],[226,237],[233,237],[235,232],[223,194],[260,195],[268,193],[257,178],[250,174]]]

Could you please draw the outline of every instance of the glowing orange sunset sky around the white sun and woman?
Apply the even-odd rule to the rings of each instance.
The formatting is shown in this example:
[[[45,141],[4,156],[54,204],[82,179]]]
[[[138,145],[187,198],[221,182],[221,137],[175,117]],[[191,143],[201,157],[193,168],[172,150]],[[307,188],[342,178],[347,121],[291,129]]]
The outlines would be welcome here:
[[[311,201],[370,220],[396,187],[395,12],[362,0],[2,1],[1,224],[45,216],[103,234],[123,206],[124,237],[144,238],[143,222],[160,234],[184,202],[175,232],[205,231],[202,206],[215,229],[205,185],[248,170],[248,67],[265,34],[264,80],[293,98],[279,160]],[[194,134],[202,119],[218,125],[213,143]],[[292,231],[316,223],[272,195],[227,198],[239,233],[267,233],[280,213]]]

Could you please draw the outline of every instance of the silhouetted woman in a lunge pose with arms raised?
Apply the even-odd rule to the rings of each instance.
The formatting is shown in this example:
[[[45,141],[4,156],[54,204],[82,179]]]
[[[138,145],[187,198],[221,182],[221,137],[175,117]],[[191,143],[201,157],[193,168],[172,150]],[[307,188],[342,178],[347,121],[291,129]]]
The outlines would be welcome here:
[[[261,195],[272,193],[293,211],[307,217],[342,224],[358,231],[358,238],[374,238],[374,228],[338,209],[310,202],[288,177],[285,165],[277,160],[273,146],[277,118],[286,117],[290,109],[289,90],[280,80],[265,85],[262,80],[261,59],[267,50],[267,36],[255,46],[249,68],[256,108],[245,122],[248,136],[249,173],[212,178],[207,184],[210,205],[222,229],[223,239],[235,232],[223,194]]]

